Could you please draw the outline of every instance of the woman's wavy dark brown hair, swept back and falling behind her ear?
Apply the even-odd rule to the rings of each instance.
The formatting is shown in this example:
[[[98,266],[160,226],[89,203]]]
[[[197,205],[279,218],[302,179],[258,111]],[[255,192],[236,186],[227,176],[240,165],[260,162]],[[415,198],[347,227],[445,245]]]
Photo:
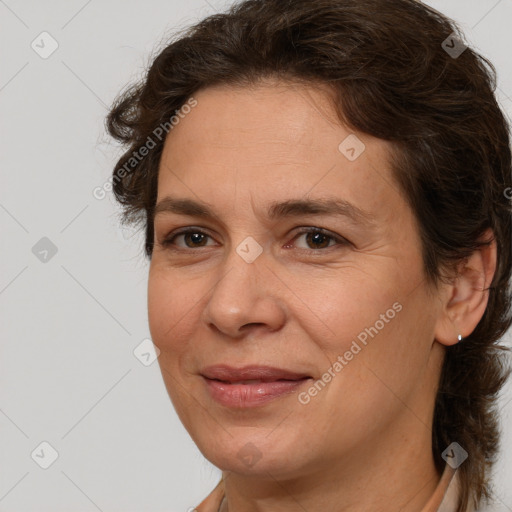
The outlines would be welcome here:
[[[245,0],[171,41],[107,122],[128,148],[114,193],[124,219],[145,226],[149,257],[165,140],[155,140],[157,127],[199,89],[265,77],[330,85],[342,122],[393,143],[393,172],[419,222],[430,284],[493,230],[498,263],[488,306],[471,335],[447,348],[434,411],[437,469],[452,441],[469,454],[459,468],[458,511],[471,495],[475,505],[490,496],[496,398],[509,374],[497,342],[512,323],[509,126],[494,96],[493,65],[469,47],[449,52],[464,49],[462,41],[452,20],[416,0]],[[131,160],[150,139],[155,147]]]

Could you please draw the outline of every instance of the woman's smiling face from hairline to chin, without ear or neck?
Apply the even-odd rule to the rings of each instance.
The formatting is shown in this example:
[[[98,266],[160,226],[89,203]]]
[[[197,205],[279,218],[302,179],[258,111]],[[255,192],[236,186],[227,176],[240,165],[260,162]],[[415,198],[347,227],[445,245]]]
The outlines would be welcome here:
[[[199,449],[277,477],[430,443],[440,308],[388,143],[341,126],[320,87],[195,99],[161,160],[148,305]],[[258,375],[289,380],[240,383]]]

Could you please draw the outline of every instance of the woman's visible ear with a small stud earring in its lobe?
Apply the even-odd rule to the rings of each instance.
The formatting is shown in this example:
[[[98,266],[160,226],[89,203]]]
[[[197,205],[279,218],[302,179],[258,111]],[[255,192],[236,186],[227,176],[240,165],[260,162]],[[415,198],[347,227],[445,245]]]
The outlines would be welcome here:
[[[494,233],[488,229],[480,241],[488,242],[458,267],[451,284],[444,285],[442,305],[436,323],[435,339],[443,345],[458,343],[458,335],[469,336],[484,315],[488,288],[496,271],[497,248]]]

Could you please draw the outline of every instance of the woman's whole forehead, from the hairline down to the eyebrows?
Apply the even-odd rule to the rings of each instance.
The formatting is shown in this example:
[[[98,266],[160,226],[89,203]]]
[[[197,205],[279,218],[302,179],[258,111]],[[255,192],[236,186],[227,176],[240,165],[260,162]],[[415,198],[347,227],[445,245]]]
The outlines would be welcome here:
[[[327,87],[217,86],[194,98],[197,106],[167,136],[159,199],[178,193],[215,203],[334,193],[370,211],[396,206],[389,143],[344,126]],[[346,152],[351,146],[355,155]]]

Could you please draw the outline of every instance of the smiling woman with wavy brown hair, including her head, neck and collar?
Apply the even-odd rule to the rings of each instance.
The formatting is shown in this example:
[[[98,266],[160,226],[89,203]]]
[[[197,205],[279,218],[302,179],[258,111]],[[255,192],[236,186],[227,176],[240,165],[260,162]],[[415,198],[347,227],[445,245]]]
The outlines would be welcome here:
[[[414,0],[246,0],[108,118],[197,508],[485,510],[511,324],[492,65]]]

